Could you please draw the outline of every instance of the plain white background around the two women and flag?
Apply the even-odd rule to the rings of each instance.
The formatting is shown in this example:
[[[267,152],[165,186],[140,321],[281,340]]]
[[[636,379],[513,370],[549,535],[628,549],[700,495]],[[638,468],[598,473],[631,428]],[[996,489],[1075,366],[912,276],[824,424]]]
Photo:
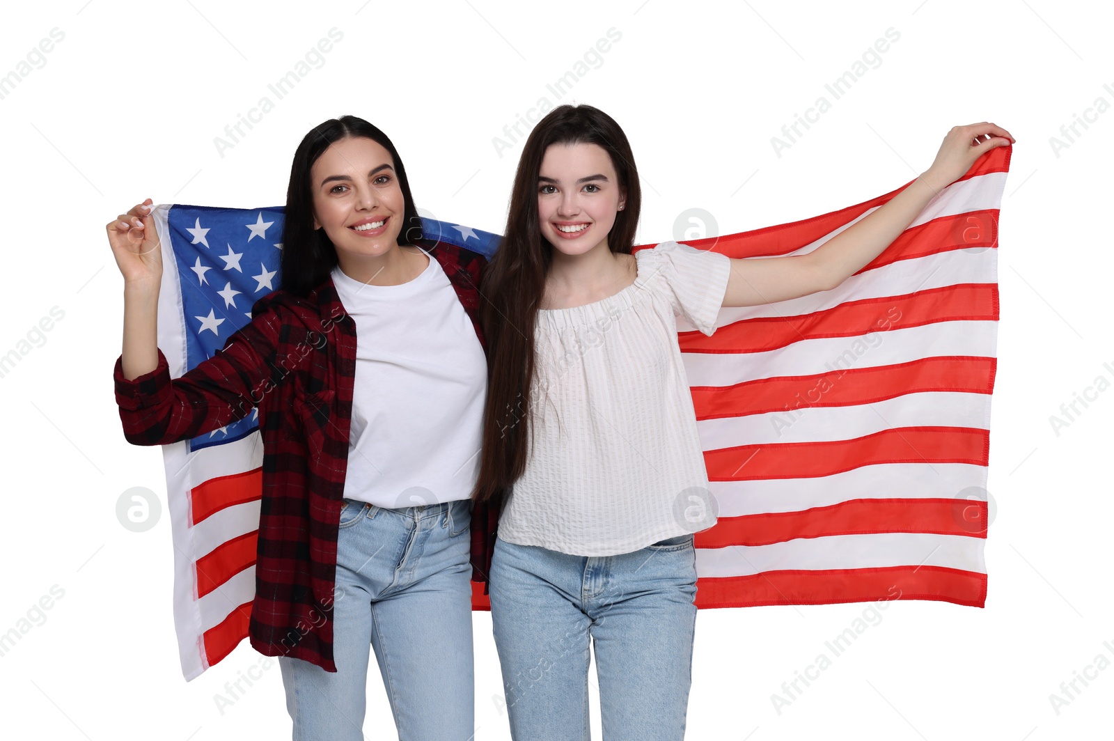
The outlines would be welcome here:
[[[1049,137],[1095,98],[1114,104],[1103,87],[1114,88],[1112,20],[1108,8],[1085,13],[1049,0],[470,0],[437,8],[72,0],[7,9],[0,75],[51,29],[65,39],[0,99],[8,232],[0,354],[51,308],[65,316],[0,378],[0,633],[20,625],[55,585],[63,596],[0,656],[0,733],[95,741],[290,734],[276,665],[217,709],[225,683],[262,660],[246,642],[199,679],[182,679],[162,455],[124,441],[113,399],[123,281],[104,225],[146,196],[281,205],[305,131],[354,114],[394,139],[420,207],[498,232],[520,147],[500,157],[492,137],[547,97],[595,105],[624,126],[644,177],[639,243],[671,238],[690,207],[714,214],[721,233],[834,211],[912,179],[954,125],[991,120],[1009,129],[1017,144],[1000,220],[988,484],[997,516],[986,608],[891,604],[780,714],[771,694],[868,605],[701,611],[687,738],[1108,737],[1102,709],[1114,695],[1114,671],[1077,683],[1081,692],[1058,714],[1049,694],[1098,654],[1114,661],[1103,643],[1114,646],[1114,391],[1077,404],[1082,413],[1058,435],[1049,416],[1097,377],[1114,381],[1114,111],[1077,127],[1059,156]],[[267,84],[333,27],[343,39],[323,66],[221,156],[214,137],[262,96],[275,100]],[[891,27],[900,39],[881,64],[833,100],[824,84]],[[610,28],[620,40],[558,100],[546,85]],[[771,137],[821,95],[831,110],[776,156]],[[145,533],[116,517],[117,498],[134,486],[164,498],[160,521]],[[476,614],[475,626],[477,739],[507,739],[494,701],[502,690],[488,615]],[[369,698],[368,738],[393,738],[374,672]]]

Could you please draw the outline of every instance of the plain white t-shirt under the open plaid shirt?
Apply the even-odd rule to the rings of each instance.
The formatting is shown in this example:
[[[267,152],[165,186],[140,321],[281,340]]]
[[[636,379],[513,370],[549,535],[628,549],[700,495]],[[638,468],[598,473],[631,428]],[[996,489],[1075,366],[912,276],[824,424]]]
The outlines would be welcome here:
[[[399,509],[467,499],[479,470],[487,361],[432,256],[414,280],[369,285],[338,265],[355,321],[355,387],[344,497]]]

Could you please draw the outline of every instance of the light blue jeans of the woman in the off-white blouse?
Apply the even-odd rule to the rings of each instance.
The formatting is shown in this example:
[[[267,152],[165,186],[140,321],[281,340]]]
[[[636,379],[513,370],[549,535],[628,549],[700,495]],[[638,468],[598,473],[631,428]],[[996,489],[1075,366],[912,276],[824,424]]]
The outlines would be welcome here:
[[[590,638],[604,741],[683,739],[695,596],[692,535],[598,557],[497,539],[491,623],[511,738],[589,739]]]

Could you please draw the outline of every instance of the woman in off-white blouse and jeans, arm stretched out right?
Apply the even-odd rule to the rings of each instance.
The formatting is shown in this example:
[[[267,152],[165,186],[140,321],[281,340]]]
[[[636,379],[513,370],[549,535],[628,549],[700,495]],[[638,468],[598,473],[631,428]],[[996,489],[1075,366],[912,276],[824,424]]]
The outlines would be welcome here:
[[[731,260],[675,242],[631,254],[641,205],[626,136],[590,106],[535,127],[488,265],[488,396],[475,498],[504,499],[491,620],[511,735],[588,739],[595,643],[606,741],[684,735],[696,587],[693,533],[715,524],[675,316],[839,285],[993,147],[952,128],[932,166],[808,255]]]

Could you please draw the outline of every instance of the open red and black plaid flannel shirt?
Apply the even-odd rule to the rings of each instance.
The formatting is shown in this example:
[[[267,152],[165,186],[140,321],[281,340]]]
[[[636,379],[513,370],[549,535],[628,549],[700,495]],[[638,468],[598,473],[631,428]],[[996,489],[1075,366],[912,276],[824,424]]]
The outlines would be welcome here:
[[[478,285],[486,261],[431,247],[483,342]],[[215,430],[258,407],[263,498],[248,634],[268,656],[335,672],[333,587],[348,466],[356,335],[332,279],[305,299],[275,291],[213,358],[172,380],[166,358],[133,380],[116,361],[116,401],[134,445],[167,445]],[[293,377],[293,378],[291,378]],[[498,506],[472,517],[472,579],[486,582]]]

